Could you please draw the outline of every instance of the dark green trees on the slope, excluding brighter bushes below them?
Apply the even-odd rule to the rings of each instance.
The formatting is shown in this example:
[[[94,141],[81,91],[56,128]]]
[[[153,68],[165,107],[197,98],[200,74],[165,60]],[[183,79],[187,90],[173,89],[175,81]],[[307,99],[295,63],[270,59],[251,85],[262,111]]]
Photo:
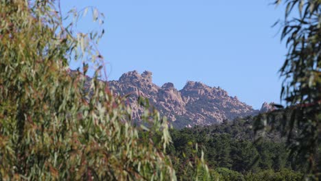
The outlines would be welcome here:
[[[278,134],[272,132],[261,141],[253,143],[252,122],[252,118],[248,117],[247,120],[235,119],[218,125],[171,130],[173,144],[167,147],[167,152],[174,160],[178,176],[185,162],[193,157],[193,143],[198,143],[204,151],[209,169],[224,167],[248,173],[298,167],[287,160],[289,151]]]

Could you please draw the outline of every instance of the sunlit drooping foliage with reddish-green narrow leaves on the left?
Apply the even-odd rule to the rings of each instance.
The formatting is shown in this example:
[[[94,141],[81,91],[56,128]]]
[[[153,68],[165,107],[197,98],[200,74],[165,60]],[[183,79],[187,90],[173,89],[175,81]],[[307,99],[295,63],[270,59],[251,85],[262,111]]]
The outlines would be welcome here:
[[[102,34],[75,30],[88,10],[103,22],[85,8],[64,26],[54,1],[0,1],[0,180],[176,180],[167,120],[140,99],[145,123],[134,126],[98,80]],[[70,73],[70,60],[83,70]],[[88,62],[100,66],[89,85]],[[191,170],[209,180],[202,156]]]

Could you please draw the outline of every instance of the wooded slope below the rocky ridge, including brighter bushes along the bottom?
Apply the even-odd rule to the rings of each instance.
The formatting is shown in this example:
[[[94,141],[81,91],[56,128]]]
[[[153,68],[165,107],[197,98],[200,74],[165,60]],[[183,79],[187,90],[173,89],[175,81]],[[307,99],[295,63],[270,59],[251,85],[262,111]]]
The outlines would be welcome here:
[[[189,173],[184,169],[187,162],[203,152],[211,173],[222,180],[302,180],[307,166],[302,164],[304,161],[288,158],[285,140],[277,132],[256,141],[252,123],[252,117],[247,117],[206,127],[171,130],[174,143],[167,152],[174,160],[178,176],[188,180]]]

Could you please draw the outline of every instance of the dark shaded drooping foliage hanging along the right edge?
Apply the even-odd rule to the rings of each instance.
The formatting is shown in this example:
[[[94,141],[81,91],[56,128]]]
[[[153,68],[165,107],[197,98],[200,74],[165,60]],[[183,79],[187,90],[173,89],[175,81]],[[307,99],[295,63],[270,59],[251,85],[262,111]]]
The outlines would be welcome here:
[[[274,3],[278,5],[281,0]],[[306,160],[307,171],[318,175],[320,170],[314,158],[321,138],[321,1],[285,0],[285,5],[285,19],[277,23],[282,27],[281,40],[285,40],[288,49],[280,69],[284,77],[281,99],[288,107],[261,115],[257,130],[265,128],[267,123],[281,128],[292,149],[292,158]]]

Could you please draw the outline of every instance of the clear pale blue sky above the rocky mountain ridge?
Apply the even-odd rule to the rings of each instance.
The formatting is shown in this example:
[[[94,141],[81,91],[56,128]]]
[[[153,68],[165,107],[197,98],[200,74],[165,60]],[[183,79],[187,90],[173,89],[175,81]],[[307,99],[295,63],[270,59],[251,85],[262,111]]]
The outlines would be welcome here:
[[[106,16],[99,43],[108,80],[137,70],[152,71],[153,82],[187,80],[220,86],[230,96],[261,108],[280,102],[278,69],[286,49],[278,28],[282,8],[272,0],[78,0],[62,1],[62,10],[91,5]],[[83,19],[80,29],[91,27]],[[75,68],[76,64],[71,64]]]

